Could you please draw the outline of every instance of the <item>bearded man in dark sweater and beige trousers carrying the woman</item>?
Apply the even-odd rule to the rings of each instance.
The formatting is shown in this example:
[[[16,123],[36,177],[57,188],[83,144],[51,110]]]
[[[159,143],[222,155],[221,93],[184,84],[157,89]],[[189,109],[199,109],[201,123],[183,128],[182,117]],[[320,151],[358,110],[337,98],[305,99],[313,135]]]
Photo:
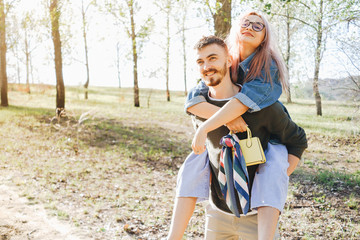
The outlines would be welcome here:
[[[241,89],[241,86],[233,84],[230,79],[231,57],[228,54],[227,46],[223,40],[210,36],[202,38],[196,44],[195,49],[197,50],[197,64],[202,80],[209,87],[206,100],[213,105],[222,107]],[[305,132],[288,118],[280,103],[275,103],[259,112],[245,113],[242,116],[252,130],[253,136],[260,138],[264,149],[268,146],[270,134],[276,134],[288,148],[289,154],[297,159],[300,158],[307,146]],[[194,121],[198,128],[195,137],[199,137],[199,129],[205,125],[203,123],[206,123],[206,120],[194,117]],[[256,212],[250,212],[246,216],[241,215],[240,218],[236,217],[223,198],[217,178],[221,150],[219,142],[228,132],[229,129],[222,126],[208,132],[207,135],[200,136],[200,138],[206,138],[206,149],[212,173],[210,204],[206,209],[205,237],[206,239],[257,239],[258,219]],[[240,133],[238,137],[240,139],[246,138],[246,133]],[[201,147],[204,146],[197,146],[196,149],[199,150]],[[196,149],[194,149],[195,153]],[[247,168],[249,193],[251,193],[257,167],[255,165]],[[239,199],[237,199],[237,208],[241,212]]]

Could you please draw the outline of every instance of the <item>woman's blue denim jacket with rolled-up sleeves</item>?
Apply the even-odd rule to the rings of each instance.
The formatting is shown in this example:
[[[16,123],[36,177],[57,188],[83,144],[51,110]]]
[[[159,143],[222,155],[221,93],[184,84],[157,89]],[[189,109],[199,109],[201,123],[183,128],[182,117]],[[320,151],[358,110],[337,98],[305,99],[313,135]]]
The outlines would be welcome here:
[[[249,72],[250,63],[254,55],[255,53],[251,54],[248,58],[239,63],[237,83],[242,84],[242,89],[234,96],[244,105],[249,107],[249,112],[260,111],[261,109],[272,105],[279,99],[282,93],[278,77],[278,68],[274,61],[272,61],[270,66],[270,74],[273,84],[270,84],[267,79],[264,79],[266,78],[265,70],[262,70],[260,77],[256,77],[243,84],[243,81]],[[187,109],[191,106],[201,102],[206,102],[205,96],[208,94],[208,91],[209,87],[206,86],[203,81],[200,81],[197,86],[192,88],[185,102],[185,112],[187,112]]]

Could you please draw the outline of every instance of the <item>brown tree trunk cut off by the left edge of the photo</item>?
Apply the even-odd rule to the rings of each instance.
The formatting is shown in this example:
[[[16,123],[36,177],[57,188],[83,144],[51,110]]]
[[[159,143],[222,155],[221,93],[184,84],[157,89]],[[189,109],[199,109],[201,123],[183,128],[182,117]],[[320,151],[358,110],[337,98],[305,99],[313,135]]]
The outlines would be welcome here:
[[[6,73],[6,22],[4,1],[0,0],[0,83],[1,106],[9,106]]]

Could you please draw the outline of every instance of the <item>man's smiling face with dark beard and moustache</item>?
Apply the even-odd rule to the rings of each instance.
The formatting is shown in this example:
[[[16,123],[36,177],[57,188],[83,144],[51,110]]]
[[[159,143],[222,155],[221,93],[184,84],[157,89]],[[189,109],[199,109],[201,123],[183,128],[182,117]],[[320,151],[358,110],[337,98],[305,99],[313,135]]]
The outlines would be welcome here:
[[[228,54],[226,50],[211,44],[197,50],[197,60],[201,78],[209,87],[219,85],[229,71]]]

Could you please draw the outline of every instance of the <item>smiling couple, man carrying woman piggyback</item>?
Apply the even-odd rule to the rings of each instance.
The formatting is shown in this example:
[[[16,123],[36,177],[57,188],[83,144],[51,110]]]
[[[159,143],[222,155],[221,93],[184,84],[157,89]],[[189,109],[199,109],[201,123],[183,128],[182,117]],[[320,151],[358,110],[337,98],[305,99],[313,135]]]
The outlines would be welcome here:
[[[282,88],[287,89],[286,71],[269,23],[255,12],[245,14],[232,26],[227,44],[203,37],[195,50],[202,81],[189,93],[185,107],[196,133],[193,152],[179,171],[168,239],[182,239],[196,202],[209,199],[209,189],[205,239],[273,239],[288,176],[307,140],[278,101]],[[246,126],[259,137],[267,162],[247,167],[250,211],[244,215],[240,207],[236,217],[219,184],[220,140],[229,130],[246,138]],[[236,201],[240,206],[238,197]]]

